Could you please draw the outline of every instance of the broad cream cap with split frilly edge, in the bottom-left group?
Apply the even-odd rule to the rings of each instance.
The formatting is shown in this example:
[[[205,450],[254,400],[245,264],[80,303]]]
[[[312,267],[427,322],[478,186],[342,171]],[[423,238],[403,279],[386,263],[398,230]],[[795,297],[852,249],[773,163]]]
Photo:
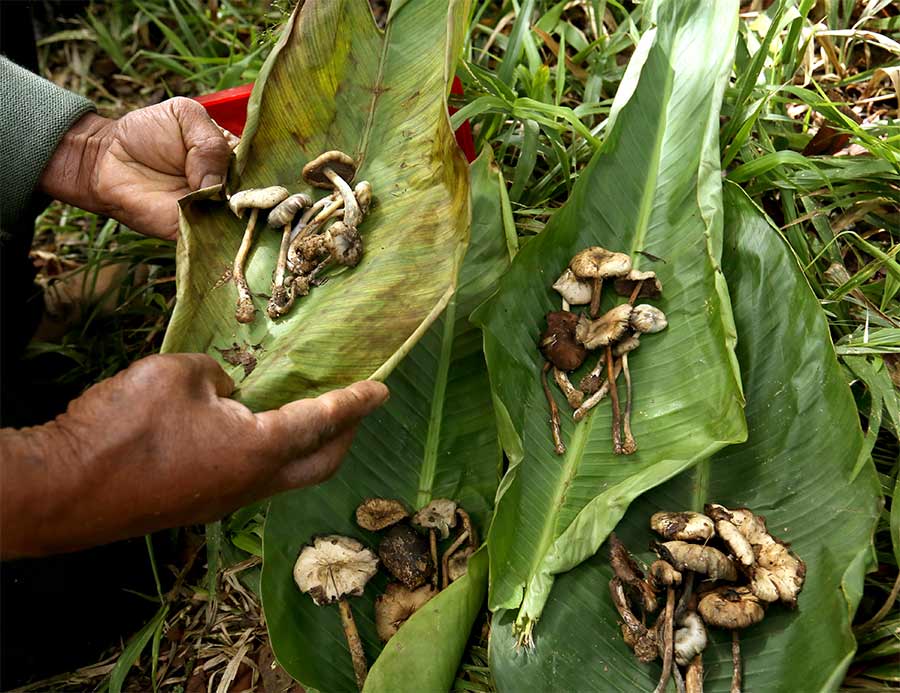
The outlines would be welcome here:
[[[358,597],[378,571],[375,554],[356,539],[337,534],[316,537],[294,563],[294,582],[319,606]]]

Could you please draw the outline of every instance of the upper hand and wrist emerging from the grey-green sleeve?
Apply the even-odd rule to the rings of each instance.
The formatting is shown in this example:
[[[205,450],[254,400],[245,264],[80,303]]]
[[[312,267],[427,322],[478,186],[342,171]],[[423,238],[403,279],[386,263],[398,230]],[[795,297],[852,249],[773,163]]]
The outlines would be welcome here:
[[[84,116],[63,137],[40,187],[135,231],[174,239],[178,199],[223,182],[230,154],[203,106],[178,97],[118,120]]]

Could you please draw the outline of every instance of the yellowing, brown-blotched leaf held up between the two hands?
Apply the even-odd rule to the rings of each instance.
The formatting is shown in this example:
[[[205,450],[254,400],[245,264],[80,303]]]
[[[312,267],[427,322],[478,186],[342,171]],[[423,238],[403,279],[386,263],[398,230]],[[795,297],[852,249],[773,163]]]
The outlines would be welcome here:
[[[446,113],[467,0],[410,0],[384,32],[366,0],[307,0],[260,72],[236,152],[240,187],[313,191],[300,172],[340,149],[360,162],[375,205],[360,226],[366,252],[271,321],[234,319],[236,292],[221,282],[243,222],[194,194],[182,203],[178,302],[165,351],[255,346],[256,369],[223,364],[253,409],[368,377],[383,377],[444,308],[467,235],[467,174]],[[280,234],[260,231],[251,287],[268,292]]]

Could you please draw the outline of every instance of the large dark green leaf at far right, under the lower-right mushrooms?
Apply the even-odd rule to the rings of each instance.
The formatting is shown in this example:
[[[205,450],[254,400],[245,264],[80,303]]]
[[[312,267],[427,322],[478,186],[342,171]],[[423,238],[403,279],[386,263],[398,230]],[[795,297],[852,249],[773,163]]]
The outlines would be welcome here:
[[[708,501],[749,507],[806,561],[798,609],[773,606],[741,635],[748,691],[836,690],[855,649],[850,623],[872,560],[880,495],[853,396],[825,315],[786,243],[732,185],[725,196],[723,269],[738,328],[749,439],[635,501],[616,532],[650,560],[649,517]],[[534,652],[515,653],[512,613],[495,617],[491,661],[501,691],[651,690],[660,666],[641,665],[619,634],[606,552],[562,576]],[[730,639],[703,654],[706,691],[728,691]],[[590,662],[589,666],[585,666]]]

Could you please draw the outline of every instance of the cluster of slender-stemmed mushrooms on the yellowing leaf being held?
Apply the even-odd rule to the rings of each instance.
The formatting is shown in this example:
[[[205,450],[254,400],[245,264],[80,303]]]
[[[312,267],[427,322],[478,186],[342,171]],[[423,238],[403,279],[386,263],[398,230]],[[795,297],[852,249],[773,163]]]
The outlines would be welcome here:
[[[313,286],[321,284],[324,279],[320,274],[329,266],[356,267],[359,264],[363,245],[358,227],[369,211],[372,186],[368,181],[361,181],[351,188],[355,175],[356,162],[350,156],[330,151],[303,167],[303,179],[307,183],[332,190],[330,195],[317,202],[305,193],[291,195],[280,185],[241,190],[229,197],[228,206],[238,218],[243,217],[245,210],[250,210],[250,219],[231,269],[238,292],[235,311],[238,322],[253,322],[256,317],[244,266],[253,245],[260,210],[271,210],[268,225],[281,231],[278,261],[272,273],[272,290],[266,306],[266,313],[273,320],[286,315],[296,297],[308,295]]]

